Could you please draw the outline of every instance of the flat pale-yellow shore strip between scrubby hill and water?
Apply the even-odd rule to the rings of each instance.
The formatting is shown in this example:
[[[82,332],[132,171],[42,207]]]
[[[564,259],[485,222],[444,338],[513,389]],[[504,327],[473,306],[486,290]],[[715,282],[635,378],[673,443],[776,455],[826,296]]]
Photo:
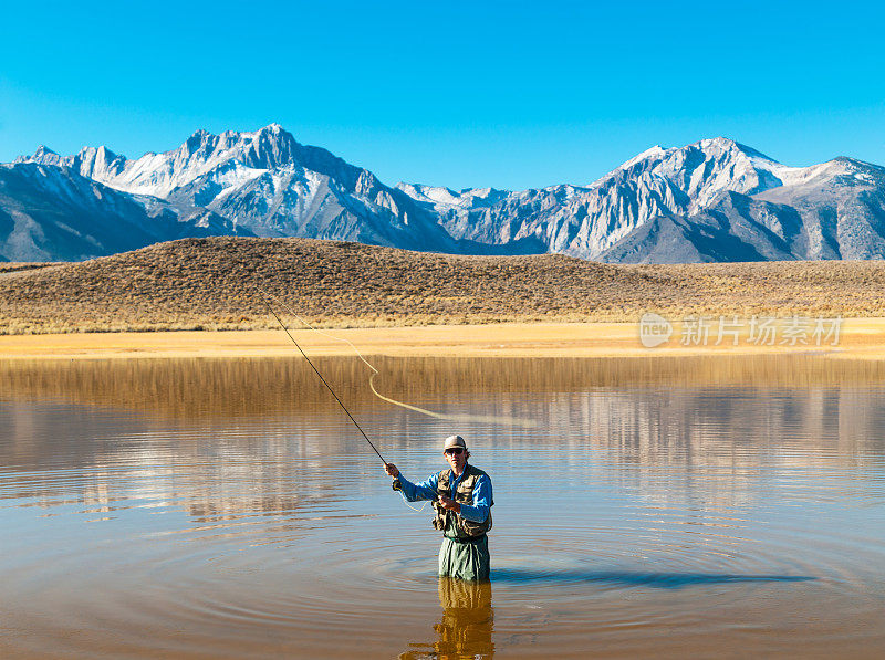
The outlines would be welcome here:
[[[638,323],[501,323],[342,329],[290,331],[309,356],[388,357],[690,357],[740,355],[821,355],[829,358],[885,358],[885,318],[846,318],[835,345],[830,341],[790,345],[749,342],[747,328],[738,345],[683,345],[680,324],[665,344],[646,348]],[[144,333],[70,333],[2,335],[0,360],[253,358],[300,355],[282,329],[174,331]]]

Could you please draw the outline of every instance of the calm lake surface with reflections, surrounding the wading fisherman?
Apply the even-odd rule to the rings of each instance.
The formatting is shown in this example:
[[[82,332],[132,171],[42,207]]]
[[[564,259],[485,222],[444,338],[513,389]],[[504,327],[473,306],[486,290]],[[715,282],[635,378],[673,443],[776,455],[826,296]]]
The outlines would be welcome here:
[[[292,360],[0,363],[4,658],[885,654],[885,365],[319,363],[412,479],[460,432],[492,580]]]

